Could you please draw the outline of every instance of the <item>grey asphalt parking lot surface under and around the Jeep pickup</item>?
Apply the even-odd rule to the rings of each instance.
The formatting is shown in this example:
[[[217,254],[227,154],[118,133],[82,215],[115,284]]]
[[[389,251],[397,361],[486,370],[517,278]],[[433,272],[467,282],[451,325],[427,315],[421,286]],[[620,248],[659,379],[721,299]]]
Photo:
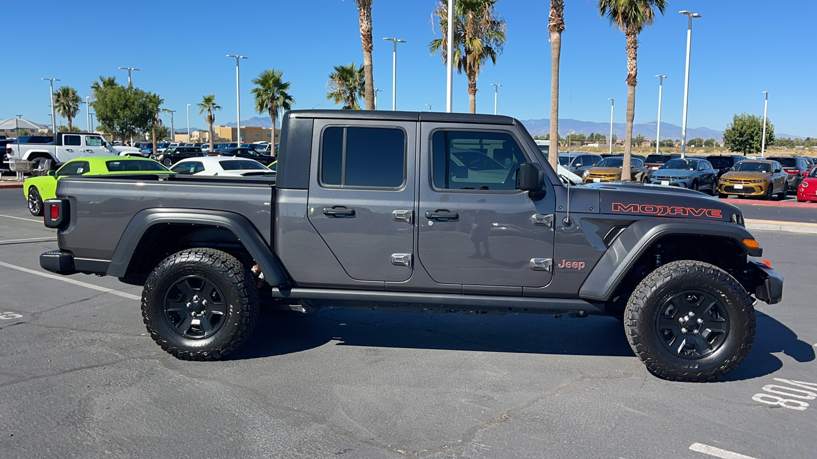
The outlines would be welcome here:
[[[201,363],[146,335],[139,287],[43,277],[54,234],[0,190],[0,457],[815,457],[817,246],[753,233],[784,301],[717,383],[651,376],[604,317],[264,311]]]

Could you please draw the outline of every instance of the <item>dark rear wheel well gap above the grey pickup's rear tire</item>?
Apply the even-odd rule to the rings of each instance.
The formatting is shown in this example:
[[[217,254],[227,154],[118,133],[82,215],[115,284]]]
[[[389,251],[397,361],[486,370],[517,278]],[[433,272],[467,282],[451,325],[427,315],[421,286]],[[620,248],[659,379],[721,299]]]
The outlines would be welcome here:
[[[143,285],[148,275],[167,256],[189,248],[214,248],[235,256],[243,265],[255,264],[239,238],[230,230],[208,225],[167,223],[151,226],[136,245],[123,283]]]

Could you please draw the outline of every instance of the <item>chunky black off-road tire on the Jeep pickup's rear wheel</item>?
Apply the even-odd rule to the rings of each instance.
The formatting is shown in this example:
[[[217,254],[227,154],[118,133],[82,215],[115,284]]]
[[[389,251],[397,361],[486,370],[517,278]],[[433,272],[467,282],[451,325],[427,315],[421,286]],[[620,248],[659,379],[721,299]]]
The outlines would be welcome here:
[[[226,314],[212,336],[194,339],[176,332],[166,317],[167,289],[185,276],[208,279],[224,293]],[[150,337],[178,359],[217,360],[236,350],[258,320],[258,290],[246,266],[229,253],[194,248],[174,253],[150,273],[142,291],[142,319]]]

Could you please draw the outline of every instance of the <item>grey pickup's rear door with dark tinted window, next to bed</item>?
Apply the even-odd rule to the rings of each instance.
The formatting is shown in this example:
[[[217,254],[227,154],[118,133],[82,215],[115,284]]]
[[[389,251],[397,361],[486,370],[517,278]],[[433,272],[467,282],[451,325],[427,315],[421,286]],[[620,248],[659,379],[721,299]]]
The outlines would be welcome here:
[[[417,123],[315,119],[314,126],[310,223],[350,278],[408,280]]]

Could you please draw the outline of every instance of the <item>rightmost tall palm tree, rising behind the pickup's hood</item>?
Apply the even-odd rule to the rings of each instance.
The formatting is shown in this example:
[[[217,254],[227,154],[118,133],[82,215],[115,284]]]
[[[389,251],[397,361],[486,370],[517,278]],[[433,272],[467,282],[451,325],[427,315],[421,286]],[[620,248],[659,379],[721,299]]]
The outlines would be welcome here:
[[[624,33],[627,43],[627,131],[624,136],[624,163],[622,180],[629,180],[632,158],[632,120],[636,116],[636,84],[638,84],[638,34],[655,21],[657,9],[662,15],[667,0],[598,0],[599,16]]]

